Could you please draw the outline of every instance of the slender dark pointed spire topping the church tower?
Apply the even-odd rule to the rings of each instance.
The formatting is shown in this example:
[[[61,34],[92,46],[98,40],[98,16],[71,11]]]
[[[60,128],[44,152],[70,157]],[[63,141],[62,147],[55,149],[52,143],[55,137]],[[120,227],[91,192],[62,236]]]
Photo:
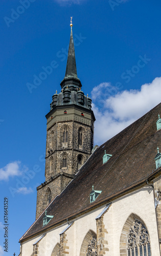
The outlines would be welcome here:
[[[72,26],[71,26],[71,33],[70,33],[67,67],[65,72],[65,78],[69,78],[69,77],[77,78]]]

